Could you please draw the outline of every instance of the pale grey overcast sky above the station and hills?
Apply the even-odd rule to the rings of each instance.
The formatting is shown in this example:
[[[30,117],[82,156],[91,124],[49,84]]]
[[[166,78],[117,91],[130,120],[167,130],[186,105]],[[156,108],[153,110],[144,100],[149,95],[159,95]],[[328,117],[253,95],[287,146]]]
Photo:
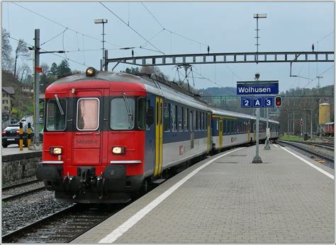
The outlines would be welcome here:
[[[59,35],[41,47],[48,51],[63,50],[63,48],[76,51],[66,54],[69,59],[82,63],[69,61],[72,69],[84,71],[87,66],[99,69],[99,59],[102,57],[101,42],[86,36],[83,38],[83,35],[79,34],[101,39],[102,25],[94,24],[95,18],[108,19],[105,25],[106,48],[111,49],[108,57],[131,56],[130,50],[115,50],[119,47],[112,43],[120,47],[140,47],[145,44],[145,40],[99,2],[18,2],[17,4],[72,29],[66,30],[64,35]],[[259,19],[259,52],[311,51],[313,43],[315,51],[334,51],[334,3],[332,2],[144,2],[162,26],[140,2],[103,2],[103,4],[126,23],[129,21],[129,25],[147,40],[159,33],[163,26],[196,41],[193,42],[163,30],[151,42],[167,55],[207,52],[206,45],[210,45],[213,52],[255,52],[254,13],[267,13],[266,19]],[[65,30],[65,27],[35,13],[11,2],[3,2],[2,27],[9,30],[12,38],[23,38],[32,45],[35,28],[40,29],[40,43],[50,40]],[[11,40],[13,49],[16,44],[15,40]],[[145,47],[155,49],[150,44]],[[83,50],[95,51],[83,52]],[[134,51],[135,56],[159,55],[159,52],[140,48]],[[52,62],[59,64],[65,56],[58,55],[61,57],[50,54],[41,55],[40,62],[49,65]],[[33,62],[29,63],[31,67]],[[293,64],[292,74],[315,79],[332,65],[331,62],[296,63]],[[112,66],[113,64],[109,65],[110,69]],[[129,66],[119,64],[116,71],[126,67]],[[159,69],[170,79],[178,77],[173,66],[159,67]],[[317,79],[310,82],[308,79],[290,77],[287,63],[202,64],[196,65],[194,70],[221,86],[236,86],[237,80],[253,79],[255,72],[261,74],[261,80],[279,79],[280,91],[305,86],[312,88],[318,84]],[[194,76],[198,77],[197,74]],[[334,84],[334,67],[322,76],[320,86]],[[197,78],[195,84],[196,88],[217,86],[206,79]]]

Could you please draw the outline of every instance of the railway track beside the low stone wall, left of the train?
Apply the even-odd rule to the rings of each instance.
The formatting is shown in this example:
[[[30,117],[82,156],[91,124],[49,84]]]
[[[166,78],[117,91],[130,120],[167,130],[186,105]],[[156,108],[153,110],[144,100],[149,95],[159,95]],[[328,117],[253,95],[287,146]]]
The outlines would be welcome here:
[[[40,183],[40,185],[38,184]],[[18,183],[16,185],[6,186],[1,189],[1,200],[9,201],[15,198],[20,198],[38,191],[45,190],[43,182],[38,180]]]

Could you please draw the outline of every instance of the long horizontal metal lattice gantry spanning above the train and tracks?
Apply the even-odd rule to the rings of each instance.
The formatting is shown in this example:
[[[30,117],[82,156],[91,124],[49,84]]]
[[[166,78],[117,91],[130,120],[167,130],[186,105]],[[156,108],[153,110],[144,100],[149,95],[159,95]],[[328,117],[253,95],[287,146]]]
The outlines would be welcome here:
[[[107,50],[106,50],[107,51]],[[215,64],[215,63],[266,63],[266,62],[334,62],[334,52],[228,52],[210,54],[155,55],[108,59],[108,63],[125,63],[145,66]],[[116,66],[115,66],[116,67]],[[115,68],[113,67],[113,69]],[[112,70],[113,70],[112,69]]]

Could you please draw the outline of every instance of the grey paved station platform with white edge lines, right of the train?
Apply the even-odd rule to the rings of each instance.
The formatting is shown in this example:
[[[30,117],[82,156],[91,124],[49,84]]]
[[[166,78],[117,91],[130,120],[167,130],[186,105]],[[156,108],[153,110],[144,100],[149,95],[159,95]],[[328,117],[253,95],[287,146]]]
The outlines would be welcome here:
[[[259,145],[211,156],[72,243],[334,244],[334,170]]]

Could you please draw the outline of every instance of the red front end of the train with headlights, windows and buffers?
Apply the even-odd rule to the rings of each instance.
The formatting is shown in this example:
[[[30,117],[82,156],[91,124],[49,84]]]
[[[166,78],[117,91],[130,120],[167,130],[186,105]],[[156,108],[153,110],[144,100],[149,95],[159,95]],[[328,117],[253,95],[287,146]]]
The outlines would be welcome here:
[[[46,89],[36,174],[57,200],[126,203],[144,178],[146,92],[142,84],[97,73]]]

